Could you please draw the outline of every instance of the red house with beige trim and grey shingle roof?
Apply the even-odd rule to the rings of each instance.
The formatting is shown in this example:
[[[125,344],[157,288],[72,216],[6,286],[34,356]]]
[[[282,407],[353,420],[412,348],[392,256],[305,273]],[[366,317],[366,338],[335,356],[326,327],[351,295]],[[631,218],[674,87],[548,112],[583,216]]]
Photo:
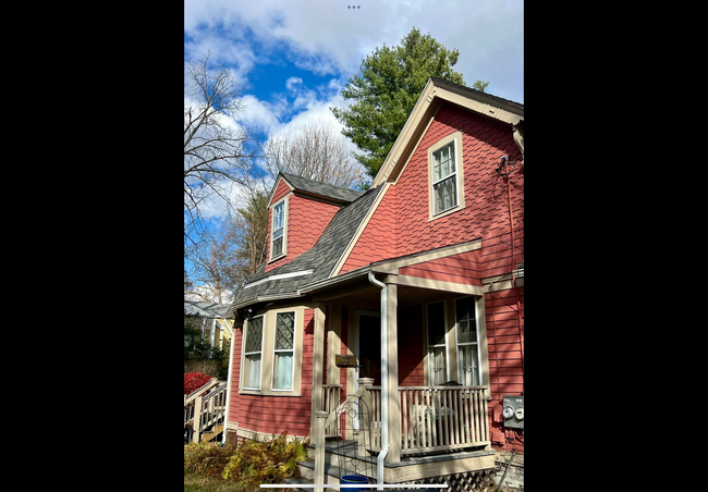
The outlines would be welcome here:
[[[331,392],[359,391],[384,402],[387,482],[523,453],[523,104],[432,77],[366,193],[278,176],[267,262],[233,306],[224,439],[315,435]],[[442,428],[420,433],[428,415],[467,420],[438,442]],[[392,465],[450,451],[473,454]]]

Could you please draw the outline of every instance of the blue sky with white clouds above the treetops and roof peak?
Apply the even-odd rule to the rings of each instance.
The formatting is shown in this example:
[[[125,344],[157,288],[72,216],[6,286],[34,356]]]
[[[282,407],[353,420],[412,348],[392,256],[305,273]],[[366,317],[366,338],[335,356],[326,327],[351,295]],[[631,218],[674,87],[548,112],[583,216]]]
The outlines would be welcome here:
[[[210,50],[233,71],[246,106],[234,124],[263,139],[308,123],[340,132],[329,108],[349,106],[341,89],[413,27],[460,51],[454,70],[467,86],[486,81],[487,93],[523,103],[523,17],[522,0],[185,0],[184,60]]]

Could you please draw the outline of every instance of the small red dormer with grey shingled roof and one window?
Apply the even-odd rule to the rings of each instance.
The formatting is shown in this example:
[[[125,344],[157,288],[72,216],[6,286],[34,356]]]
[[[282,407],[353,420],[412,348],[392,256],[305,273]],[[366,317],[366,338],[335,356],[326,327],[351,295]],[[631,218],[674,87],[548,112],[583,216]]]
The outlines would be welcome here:
[[[312,248],[334,213],[361,195],[353,189],[279,173],[268,200],[265,271],[281,267]]]

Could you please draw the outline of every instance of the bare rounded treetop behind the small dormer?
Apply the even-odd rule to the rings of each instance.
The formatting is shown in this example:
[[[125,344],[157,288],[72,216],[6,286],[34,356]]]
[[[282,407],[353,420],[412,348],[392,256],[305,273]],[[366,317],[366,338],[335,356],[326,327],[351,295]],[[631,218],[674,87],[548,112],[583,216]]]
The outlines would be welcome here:
[[[345,188],[363,182],[359,165],[346,151],[342,136],[329,126],[310,123],[293,137],[273,138],[265,153],[265,168],[273,179],[283,171]]]

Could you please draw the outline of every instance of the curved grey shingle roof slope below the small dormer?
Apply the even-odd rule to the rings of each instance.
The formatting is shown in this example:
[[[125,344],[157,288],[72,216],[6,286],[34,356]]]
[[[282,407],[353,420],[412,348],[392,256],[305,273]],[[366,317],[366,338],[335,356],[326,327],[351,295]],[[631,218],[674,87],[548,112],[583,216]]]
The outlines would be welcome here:
[[[328,279],[381,189],[371,188],[364,194],[356,192],[361,196],[338,210],[312,248],[268,273],[260,269],[239,294],[234,307],[269,298],[300,297],[297,291],[301,286]]]

